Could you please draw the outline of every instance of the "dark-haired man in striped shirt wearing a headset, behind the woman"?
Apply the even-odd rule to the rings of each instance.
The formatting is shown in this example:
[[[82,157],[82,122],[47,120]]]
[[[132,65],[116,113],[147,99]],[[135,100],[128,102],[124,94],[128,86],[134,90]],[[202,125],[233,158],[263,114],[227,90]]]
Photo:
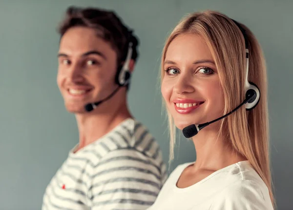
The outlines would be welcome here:
[[[147,209],[166,166],[127,107],[138,40],[113,12],[95,8],[68,8],[59,32],[57,83],[79,144],[49,183],[42,210]]]

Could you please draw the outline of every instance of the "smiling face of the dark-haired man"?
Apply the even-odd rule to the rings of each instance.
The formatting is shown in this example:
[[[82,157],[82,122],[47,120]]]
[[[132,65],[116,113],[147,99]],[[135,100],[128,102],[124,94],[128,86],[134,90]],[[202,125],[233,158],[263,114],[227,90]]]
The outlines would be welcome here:
[[[68,112],[84,113],[85,104],[104,99],[117,87],[117,53],[94,29],[67,30],[58,60],[57,84]]]

